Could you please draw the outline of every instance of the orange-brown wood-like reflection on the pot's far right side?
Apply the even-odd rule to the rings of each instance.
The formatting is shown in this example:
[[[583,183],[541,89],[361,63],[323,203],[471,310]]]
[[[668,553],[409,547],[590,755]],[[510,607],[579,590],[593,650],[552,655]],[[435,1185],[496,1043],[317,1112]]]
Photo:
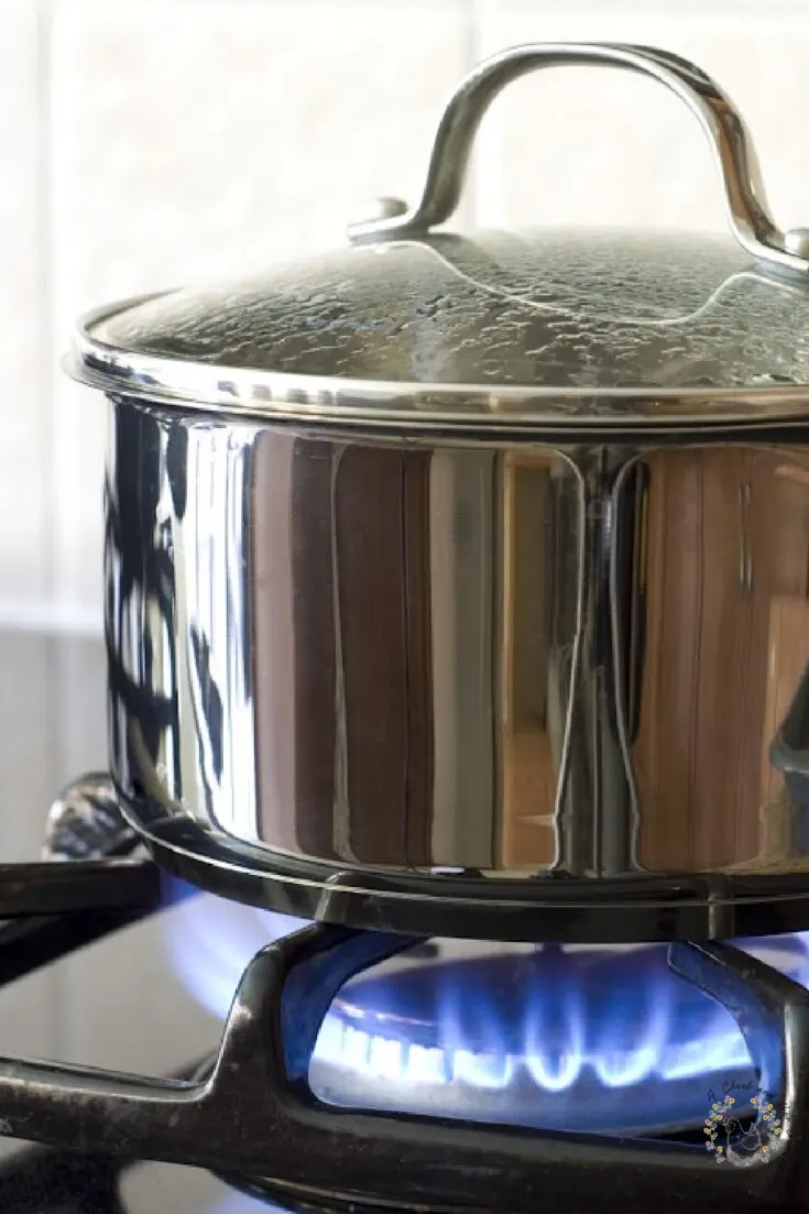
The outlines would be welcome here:
[[[785,812],[769,744],[809,659],[809,471],[753,448],[647,465],[639,860],[765,861]]]

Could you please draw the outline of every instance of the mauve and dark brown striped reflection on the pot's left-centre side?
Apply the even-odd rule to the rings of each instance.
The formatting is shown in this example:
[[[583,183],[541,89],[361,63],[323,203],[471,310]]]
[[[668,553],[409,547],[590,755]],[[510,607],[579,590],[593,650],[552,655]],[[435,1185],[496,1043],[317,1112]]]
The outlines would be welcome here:
[[[394,448],[256,444],[259,781],[293,851],[430,860],[428,470]]]

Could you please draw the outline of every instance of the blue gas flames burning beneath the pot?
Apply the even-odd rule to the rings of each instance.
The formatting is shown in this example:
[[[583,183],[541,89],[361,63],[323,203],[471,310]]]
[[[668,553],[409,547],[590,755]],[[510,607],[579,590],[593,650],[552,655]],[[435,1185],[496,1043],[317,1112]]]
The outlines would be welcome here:
[[[224,1019],[250,958],[300,925],[200,895],[166,915],[166,942]],[[809,934],[743,947],[809,986]],[[714,1093],[752,1094],[757,1076],[730,1014],[661,947],[437,942],[346,983],[310,1082],[336,1105],[624,1133],[701,1122]]]

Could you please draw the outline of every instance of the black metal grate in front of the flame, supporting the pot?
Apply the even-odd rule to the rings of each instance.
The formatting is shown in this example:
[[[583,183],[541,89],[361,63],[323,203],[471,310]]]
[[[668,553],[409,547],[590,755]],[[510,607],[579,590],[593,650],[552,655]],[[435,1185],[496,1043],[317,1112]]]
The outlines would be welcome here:
[[[81,881],[86,863],[56,867]],[[29,902],[35,902],[36,879],[52,901],[41,869],[33,866]],[[17,883],[26,878],[22,870],[16,875]],[[141,913],[155,906],[143,902]],[[694,1206],[698,1199],[725,1210],[743,1202],[747,1209],[764,1210],[774,1201],[791,1199],[802,1184],[809,1113],[809,995],[792,978],[731,944],[678,942],[668,948],[666,965],[732,1016],[758,1085],[775,1096],[782,1133],[771,1140],[765,1158],[746,1159],[743,1168],[717,1168],[705,1142],[630,1139],[615,1131],[571,1134],[491,1119],[481,1124],[468,1117],[451,1119],[441,1107],[425,1117],[326,1105],[317,1099],[311,1077],[329,1009],[345,1022],[362,1006],[374,1032],[385,1029],[392,1038],[401,1036],[405,1021],[417,1021],[422,1033],[430,1032],[430,1015],[423,1012],[437,1006],[435,993],[441,987],[432,978],[415,976],[418,969],[408,977],[406,954],[414,946],[424,947],[424,942],[311,925],[264,948],[242,976],[213,1065],[191,1080],[147,1080],[0,1060],[5,1133],[78,1151],[91,1142],[95,1152],[192,1164],[248,1178],[250,1187],[266,1185],[267,1192],[287,1195],[285,1204],[336,1209],[346,1204],[419,1212],[503,1208],[532,1214],[538,1192],[553,1204],[566,1199],[572,1170],[593,1214],[612,1210],[618,1195],[627,1214],[646,1214],[652,1204],[660,1207],[661,1193],[672,1186],[680,1203]],[[641,959],[645,966],[652,957],[662,964],[647,949],[617,960],[628,966],[629,978],[639,972]],[[788,968],[788,951],[783,958]],[[390,991],[390,975],[349,986],[391,959],[402,966],[397,985],[402,983],[409,999],[409,1012],[400,1011],[397,1017],[385,1014],[383,993]],[[531,1002],[526,992],[538,989],[543,964],[559,982],[565,968],[579,961],[576,953],[559,951],[517,951],[511,958],[487,959],[488,965],[499,966],[503,989],[509,988],[509,999],[520,1006]],[[454,966],[452,976],[462,992],[458,1008],[481,964],[475,959],[447,963],[451,970]],[[422,957],[419,965],[422,974],[435,976],[440,957]],[[583,980],[581,989],[589,981],[598,989],[599,965],[590,957],[595,977]],[[582,972],[587,971],[584,966]],[[458,1015],[463,1022],[465,1012]],[[756,1127],[764,1127],[768,1116],[757,1113]],[[486,1161],[485,1186],[481,1159]]]

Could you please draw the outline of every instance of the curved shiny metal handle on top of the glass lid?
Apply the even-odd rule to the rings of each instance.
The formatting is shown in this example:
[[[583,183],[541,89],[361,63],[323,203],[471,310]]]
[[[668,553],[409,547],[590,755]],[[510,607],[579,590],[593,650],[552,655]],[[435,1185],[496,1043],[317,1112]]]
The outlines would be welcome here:
[[[485,59],[449,100],[432,144],[422,200],[408,208],[383,199],[380,212],[352,223],[355,244],[423,236],[453,214],[466,175],[473,138],[497,93],[538,68],[593,64],[641,72],[685,102],[700,120],[719,168],[730,227],[756,259],[777,270],[809,271],[809,233],[780,232],[768,214],[756,149],[728,96],[700,68],[666,51],[607,42],[537,42],[514,46]]]

